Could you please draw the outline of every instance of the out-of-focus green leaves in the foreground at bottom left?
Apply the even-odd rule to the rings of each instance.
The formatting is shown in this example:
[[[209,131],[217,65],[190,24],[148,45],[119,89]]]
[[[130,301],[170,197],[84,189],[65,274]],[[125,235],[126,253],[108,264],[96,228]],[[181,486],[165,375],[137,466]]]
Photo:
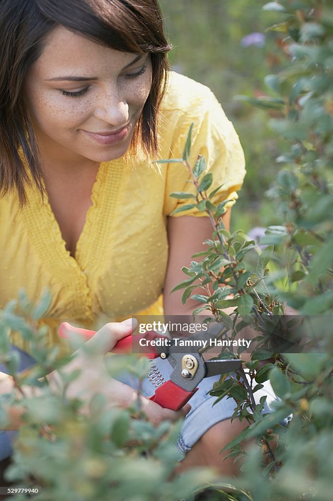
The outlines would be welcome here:
[[[119,409],[107,406],[105,396],[99,393],[89,402],[84,395],[82,399],[68,396],[67,389],[79,374],[77,370],[61,372],[71,357],[59,357],[57,347],[47,348],[46,331],[36,324],[48,304],[49,296],[44,294],[32,307],[21,291],[18,304],[10,302],[0,312],[0,363],[13,377],[15,387],[12,393],[0,396],[0,429],[8,420],[8,404],[24,409],[5,478],[18,488],[38,488],[38,494],[29,499],[39,501],[170,501],[191,497],[193,490],[213,477],[202,468],[174,473],[180,458],[175,446],[180,422],[171,425],[163,421],[154,426],[146,419],[139,400],[131,408]],[[17,372],[18,355],[9,349],[11,330],[30,343],[38,362],[23,372]],[[147,365],[145,359],[134,355],[107,359],[110,381],[125,369],[140,380]],[[53,369],[60,375],[58,391],[45,377]],[[83,412],[86,404],[88,411]],[[26,499],[24,494],[9,497],[12,501]]]

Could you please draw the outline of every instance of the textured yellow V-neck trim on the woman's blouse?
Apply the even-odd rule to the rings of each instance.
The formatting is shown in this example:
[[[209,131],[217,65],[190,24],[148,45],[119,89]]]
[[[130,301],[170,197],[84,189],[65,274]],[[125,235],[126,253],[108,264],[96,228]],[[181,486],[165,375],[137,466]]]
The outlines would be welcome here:
[[[23,207],[22,217],[29,239],[52,279],[72,292],[71,306],[75,310],[72,313],[76,318],[91,317],[92,282],[102,269],[105,253],[110,248],[111,227],[124,167],[122,158],[100,163],[91,192],[92,204],[76,244],[75,258],[66,250],[48,198],[45,197],[42,204],[40,194],[27,189],[29,203]],[[80,301],[77,301],[77,296]]]

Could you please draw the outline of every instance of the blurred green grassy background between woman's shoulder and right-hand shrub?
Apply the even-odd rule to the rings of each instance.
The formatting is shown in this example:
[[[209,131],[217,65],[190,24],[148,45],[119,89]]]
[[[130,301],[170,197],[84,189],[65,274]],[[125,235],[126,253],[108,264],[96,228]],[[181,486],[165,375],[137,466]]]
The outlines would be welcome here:
[[[287,64],[279,50],[279,36],[265,32],[274,14],[263,12],[255,0],[161,0],[166,32],[174,49],[172,69],[207,85],[216,95],[239,134],[247,175],[232,209],[232,226],[245,231],[253,226],[277,223],[264,193],[275,177],[275,157],[285,148],[283,140],[267,125],[263,110],[236,101],[237,94],[265,95],[263,78]],[[244,40],[251,34],[257,38]]]

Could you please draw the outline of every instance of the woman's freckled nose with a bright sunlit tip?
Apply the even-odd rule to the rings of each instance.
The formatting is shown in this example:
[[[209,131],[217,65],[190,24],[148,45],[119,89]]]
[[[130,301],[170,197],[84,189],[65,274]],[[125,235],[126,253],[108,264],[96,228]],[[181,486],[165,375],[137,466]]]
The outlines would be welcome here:
[[[94,116],[115,127],[128,121],[128,104],[119,90],[100,93]]]

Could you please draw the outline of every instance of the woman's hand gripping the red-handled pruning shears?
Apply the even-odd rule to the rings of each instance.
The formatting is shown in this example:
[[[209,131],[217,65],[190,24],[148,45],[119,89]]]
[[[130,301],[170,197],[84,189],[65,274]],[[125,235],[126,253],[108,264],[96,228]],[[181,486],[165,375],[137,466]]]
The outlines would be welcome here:
[[[85,400],[83,412],[86,413],[88,413],[88,403],[96,393],[101,393],[106,397],[108,407],[129,407],[139,398],[141,408],[152,424],[157,425],[164,419],[174,421],[184,416],[190,407],[185,406],[179,412],[164,409],[155,402],[138,395],[133,388],[113,379],[107,372],[104,363],[105,354],[110,352],[120,339],[131,334],[135,328],[135,319],[105,324],[85,343],[88,350],[78,349],[73,354],[73,360],[60,370],[61,373],[81,370],[79,376],[69,383],[66,395],[69,398],[77,397]],[[73,330],[71,328],[71,332]],[[62,384],[59,372],[53,371],[47,378],[51,388],[58,392]]]

